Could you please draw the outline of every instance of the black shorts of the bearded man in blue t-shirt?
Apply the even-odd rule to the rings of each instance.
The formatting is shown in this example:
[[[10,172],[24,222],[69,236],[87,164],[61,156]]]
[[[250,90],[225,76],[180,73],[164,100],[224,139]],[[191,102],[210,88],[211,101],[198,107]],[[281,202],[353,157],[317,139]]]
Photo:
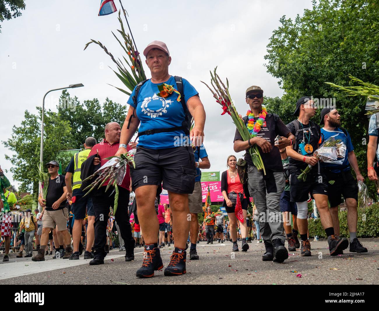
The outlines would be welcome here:
[[[325,172],[330,207],[341,204],[341,195],[358,201],[358,184],[350,170],[341,173]]]

